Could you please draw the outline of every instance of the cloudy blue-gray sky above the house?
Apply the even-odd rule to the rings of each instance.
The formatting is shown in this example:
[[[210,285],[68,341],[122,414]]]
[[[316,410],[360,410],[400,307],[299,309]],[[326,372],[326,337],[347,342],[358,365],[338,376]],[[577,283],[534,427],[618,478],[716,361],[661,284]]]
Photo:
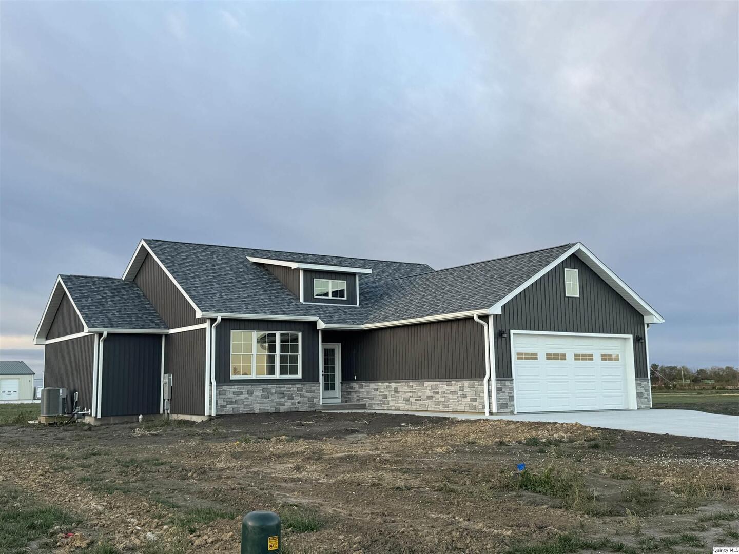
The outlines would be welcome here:
[[[736,2],[0,4],[0,349],[141,237],[448,267],[582,241],[739,365]]]

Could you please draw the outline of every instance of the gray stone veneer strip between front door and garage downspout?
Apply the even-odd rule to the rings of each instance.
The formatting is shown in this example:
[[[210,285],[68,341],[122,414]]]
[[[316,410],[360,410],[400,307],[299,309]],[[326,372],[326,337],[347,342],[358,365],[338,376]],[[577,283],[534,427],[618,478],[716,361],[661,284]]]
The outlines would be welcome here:
[[[483,380],[347,381],[341,402],[373,410],[485,412]]]

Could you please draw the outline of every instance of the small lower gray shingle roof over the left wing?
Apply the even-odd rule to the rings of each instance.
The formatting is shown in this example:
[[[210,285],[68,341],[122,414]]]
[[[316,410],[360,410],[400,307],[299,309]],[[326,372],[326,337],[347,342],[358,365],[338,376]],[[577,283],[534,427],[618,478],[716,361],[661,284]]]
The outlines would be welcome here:
[[[135,283],[115,277],[60,277],[90,329],[167,329]]]

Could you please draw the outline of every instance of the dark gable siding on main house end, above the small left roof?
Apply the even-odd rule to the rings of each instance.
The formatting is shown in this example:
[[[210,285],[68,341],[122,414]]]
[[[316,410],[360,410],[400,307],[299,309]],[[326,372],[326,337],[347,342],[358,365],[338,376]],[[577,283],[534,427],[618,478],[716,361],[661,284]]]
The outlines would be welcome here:
[[[195,317],[195,309],[151,256],[144,259],[134,283],[170,329],[205,323],[205,319]]]

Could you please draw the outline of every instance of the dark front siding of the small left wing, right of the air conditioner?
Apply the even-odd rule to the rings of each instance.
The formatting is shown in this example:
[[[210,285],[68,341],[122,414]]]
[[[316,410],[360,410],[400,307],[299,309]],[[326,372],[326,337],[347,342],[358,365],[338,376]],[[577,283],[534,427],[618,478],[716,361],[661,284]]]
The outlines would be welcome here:
[[[158,414],[161,360],[162,335],[108,335],[103,341],[101,415]]]

